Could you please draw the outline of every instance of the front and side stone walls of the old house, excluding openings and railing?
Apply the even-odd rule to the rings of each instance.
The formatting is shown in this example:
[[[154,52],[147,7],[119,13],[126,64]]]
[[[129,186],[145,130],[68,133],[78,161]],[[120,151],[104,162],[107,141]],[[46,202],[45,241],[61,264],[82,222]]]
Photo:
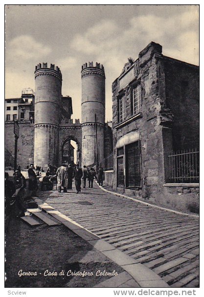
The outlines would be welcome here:
[[[129,71],[127,64],[125,66],[125,71]],[[130,69],[135,67],[135,79],[131,78],[132,81],[121,89],[119,83],[121,77],[125,76],[125,72],[122,72],[112,85],[113,189],[143,199],[152,199],[157,204],[171,205],[174,208],[174,199],[169,197],[174,196],[177,199],[177,195],[172,190],[164,189],[163,185],[169,182],[169,152],[176,147],[181,149],[186,146],[192,147],[198,140],[199,96],[198,90],[195,90],[195,88],[198,89],[197,68],[163,57],[161,46],[154,42],[142,50],[139,53],[139,58],[129,67]],[[185,94],[181,92],[181,82],[183,81],[188,81],[187,87],[184,83]],[[141,109],[134,115],[133,89],[138,84],[141,87]],[[125,100],[125,117],[124,121],[120,123],[118,104],[121,96],[124,96]],[[134,190],[126,189],[126,186],[124,189],[119,189],[116,178],[116,146],[118,143],[123,143],[123,140],[125,144],[133,142],[133,133],[139,135],[141,186]],[[125,174],[124,165],[124,176]],[[178,205],[176,207],[178,208]],[[184,206],[183,209],[185,209]]]

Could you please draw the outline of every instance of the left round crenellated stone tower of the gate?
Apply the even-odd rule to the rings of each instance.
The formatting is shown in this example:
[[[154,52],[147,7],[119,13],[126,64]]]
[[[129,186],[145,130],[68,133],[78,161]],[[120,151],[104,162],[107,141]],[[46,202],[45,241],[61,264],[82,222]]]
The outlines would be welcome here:
[[[62,74],[58,66],[38,64],[35,70],[34,165],[58,165]]]

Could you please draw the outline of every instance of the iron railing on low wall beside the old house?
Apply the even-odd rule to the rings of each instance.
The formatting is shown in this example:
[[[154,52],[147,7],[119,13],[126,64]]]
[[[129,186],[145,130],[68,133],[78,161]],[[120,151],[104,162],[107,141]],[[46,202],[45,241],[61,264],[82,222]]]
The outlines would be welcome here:
[[[183,149],[169,154],[170,181],[173,183],[198,183],[199,149]]]

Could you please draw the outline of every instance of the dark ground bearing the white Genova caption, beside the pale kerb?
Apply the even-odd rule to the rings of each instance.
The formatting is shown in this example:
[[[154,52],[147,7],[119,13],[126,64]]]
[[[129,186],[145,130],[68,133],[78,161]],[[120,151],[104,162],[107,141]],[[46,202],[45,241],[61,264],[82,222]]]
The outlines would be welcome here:
[[[90,288],[101,287],[100,283],[139,287],[133,276],[64,223],[48,226],[41,221],[31,227],[12,218],[5,238],[6,288]]]

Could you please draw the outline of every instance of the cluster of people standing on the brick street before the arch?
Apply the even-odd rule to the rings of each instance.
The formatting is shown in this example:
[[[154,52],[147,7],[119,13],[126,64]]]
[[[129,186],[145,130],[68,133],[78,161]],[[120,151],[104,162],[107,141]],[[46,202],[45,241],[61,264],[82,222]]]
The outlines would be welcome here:
[[[72,168],[71,164],[66,167],[62,164],[56,172],[58,191],[67,192],[67,189],[72,189],[72,181],[75,182],[76,193],[81,192],[81,181],[83,180],[83,188],[86,188],[86,181],[89,181],[89,188],[93,188],[93,180],[97,179],[99,185],[103,185],[103,168],[100,167],[98,172],[91,167],[87,168],[85,165],[83,169],[79,165]]]

